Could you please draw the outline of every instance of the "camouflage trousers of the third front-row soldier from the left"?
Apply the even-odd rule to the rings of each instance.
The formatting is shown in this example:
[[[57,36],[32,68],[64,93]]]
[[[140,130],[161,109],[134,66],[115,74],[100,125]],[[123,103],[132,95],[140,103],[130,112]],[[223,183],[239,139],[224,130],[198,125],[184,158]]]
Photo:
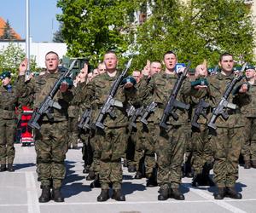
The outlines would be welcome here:
[[[164,185],[179,187],[189,132],[183,125],[172,126],[167,131],[160,130],[159,125],[155,125],[154,135],[158,138],[155,143],[158,165],[157,181],[160,187]]]

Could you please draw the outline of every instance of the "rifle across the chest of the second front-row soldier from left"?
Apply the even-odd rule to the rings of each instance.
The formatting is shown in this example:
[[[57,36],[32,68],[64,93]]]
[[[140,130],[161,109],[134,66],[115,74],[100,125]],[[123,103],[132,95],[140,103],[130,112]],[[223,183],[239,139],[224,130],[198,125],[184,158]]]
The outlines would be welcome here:
[[[102,130],[104,130],[103,121],[106,118],[107,114],[109,114],[111,118],[115,118],[115,115],[113,114],[113,112],[111,112],[113,109],[114,103],[115,103],[113,97],[116,94],[117,90],[119,89],[119,85],[122,82],[123,78],[125,78],[126,72],[128,71],[128,69],[131,66],[131,60],[132,60],[132,58],[128,61],[127,65],[125,66],[125,70],[119,75],[119,78],[117,78],[113,82],[110,92],[108,94],[108,98],[105,101],[105,103],[101,109],[101,112],[99,113],[99,115],[96,119],[96,124],[95,124],[96,127],[100,128]]]

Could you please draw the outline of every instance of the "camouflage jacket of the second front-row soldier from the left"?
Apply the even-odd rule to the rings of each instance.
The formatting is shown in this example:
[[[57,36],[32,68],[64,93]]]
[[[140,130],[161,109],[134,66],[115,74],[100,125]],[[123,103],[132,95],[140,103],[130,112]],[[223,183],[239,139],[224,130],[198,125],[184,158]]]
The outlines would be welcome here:
[[[84,91],[84,102],[82,103],[84,108],[90,108],[92,110],[92,123],[96,122],[96,118],[100,113],[101,107],[107,100],[110,89],[113,85],[114,80],[118,78],[116,75],[114,78],[109,77],[108,73],[93,78],[90,83],[86,85],[86,91]],[[109,114],[104,119],[104,125],[108,128],[125,127],[128,124],[128,118],[126,109],[132,105],[132,96],[135,95],[134,88],[125,89],[120,86],[114,100],[119,102],[113,107],[112,112],[116,118],[111,118]]]

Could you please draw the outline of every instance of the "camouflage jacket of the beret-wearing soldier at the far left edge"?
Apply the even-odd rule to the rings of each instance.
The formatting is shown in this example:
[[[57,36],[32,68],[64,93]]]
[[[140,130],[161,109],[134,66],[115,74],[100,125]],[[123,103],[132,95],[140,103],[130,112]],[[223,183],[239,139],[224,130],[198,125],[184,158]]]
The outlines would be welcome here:
[[[18,96],[15,87],[11,87],[11,89],[0,87],[0,118],[14,119],[17,103]]]

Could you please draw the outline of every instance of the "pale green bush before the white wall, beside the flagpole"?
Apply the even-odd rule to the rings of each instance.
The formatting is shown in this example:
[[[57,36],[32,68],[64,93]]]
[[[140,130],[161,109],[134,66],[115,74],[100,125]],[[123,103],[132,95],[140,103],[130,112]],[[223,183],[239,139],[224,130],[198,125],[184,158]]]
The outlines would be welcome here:
[[[20,44],[9,43],[6,48],[0,49],[0,72],[10,71],[14,76],[18,75],[20,62],[24,60],[26,54]],[[35,59],[31,59],[31,70],[35,70]]]

